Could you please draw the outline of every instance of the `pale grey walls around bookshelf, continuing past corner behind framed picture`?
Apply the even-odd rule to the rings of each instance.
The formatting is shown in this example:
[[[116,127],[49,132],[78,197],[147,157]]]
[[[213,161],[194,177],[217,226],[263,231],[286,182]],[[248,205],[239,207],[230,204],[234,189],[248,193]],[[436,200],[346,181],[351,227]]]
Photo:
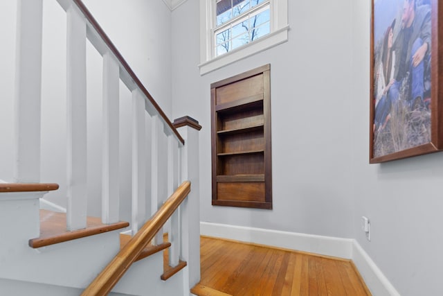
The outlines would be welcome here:
[[[197,2],[172,13],[172,101],[204,127],[201,220],[356,238],[401,295],[443,295],[443,154],[368,164],[370,1],[289,1],[289,42],[205,76]],[[274,209],[213,207],[210,83],[266,63]]]

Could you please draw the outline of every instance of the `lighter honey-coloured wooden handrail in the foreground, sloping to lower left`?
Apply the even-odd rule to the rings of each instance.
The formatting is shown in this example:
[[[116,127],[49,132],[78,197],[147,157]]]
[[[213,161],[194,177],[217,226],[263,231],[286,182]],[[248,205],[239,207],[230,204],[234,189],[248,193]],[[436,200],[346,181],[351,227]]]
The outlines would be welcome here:
[[[189,181],[183,182],[179,188],[172,193],[170,198],[165,201],[159,211],[147,220],[136,235],[118,252],[107,267],[100,272],[91,284],[83,291],[82,295],[101,296],[107,295],[123,277],[129,266],[136,261],[138,254],[154,238],[157,232],[163,227],[168,218],[179,207],[181,202],[190,193],[191,185]]]

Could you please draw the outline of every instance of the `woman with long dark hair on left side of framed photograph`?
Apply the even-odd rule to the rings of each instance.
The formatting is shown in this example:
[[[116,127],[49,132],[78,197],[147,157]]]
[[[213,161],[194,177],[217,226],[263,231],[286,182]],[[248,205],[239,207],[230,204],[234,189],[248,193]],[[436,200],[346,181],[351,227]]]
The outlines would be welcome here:
[[[387,98],[392,84],[394,84],[395,51],[392,50],[395,19],[386,29],[383,37],[381,62],[377,72],[377,98],[375,101],[374,130],[383,130],[390,119],[391,102]]]

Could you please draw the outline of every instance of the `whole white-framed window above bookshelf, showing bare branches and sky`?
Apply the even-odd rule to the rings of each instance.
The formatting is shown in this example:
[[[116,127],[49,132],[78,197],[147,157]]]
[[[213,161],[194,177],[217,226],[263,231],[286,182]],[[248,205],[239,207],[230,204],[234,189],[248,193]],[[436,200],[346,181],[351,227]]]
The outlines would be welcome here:
[[[287,41],[287,0],[200,0],[200,10],[201,74]]]

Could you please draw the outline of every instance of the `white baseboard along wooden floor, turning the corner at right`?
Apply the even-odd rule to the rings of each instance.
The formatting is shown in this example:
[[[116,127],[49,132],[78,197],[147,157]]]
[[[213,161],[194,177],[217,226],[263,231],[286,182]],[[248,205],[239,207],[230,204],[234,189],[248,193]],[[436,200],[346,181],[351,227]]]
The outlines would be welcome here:
[[[200,232],[204,236],[215,236],[246,243],[257,243],[325,256],[352,259],[372,295],[399,296],[399,293],[383,275],[383,272],[375,265],[374,261],[372,261],[359,243],[352,238],[316,236],[207,222],[200,223]]]

